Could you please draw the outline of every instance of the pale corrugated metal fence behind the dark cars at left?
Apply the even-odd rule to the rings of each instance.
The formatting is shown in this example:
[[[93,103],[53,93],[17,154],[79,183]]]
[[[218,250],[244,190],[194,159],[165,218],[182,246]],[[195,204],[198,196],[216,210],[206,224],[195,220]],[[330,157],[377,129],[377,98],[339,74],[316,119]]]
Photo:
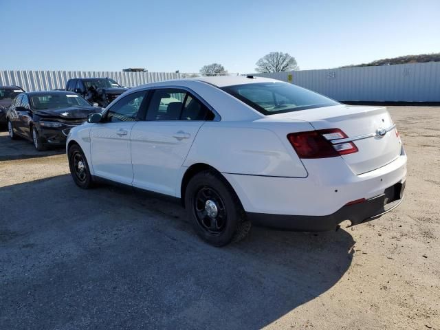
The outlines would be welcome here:
[[[18,85],[25,91],[63,89],[70,78],[104,78],[116,80],[120,85],[135,87],[160,80],[179,78],[172,72],[92,72],[92,71],[0,71],[0,85]]]

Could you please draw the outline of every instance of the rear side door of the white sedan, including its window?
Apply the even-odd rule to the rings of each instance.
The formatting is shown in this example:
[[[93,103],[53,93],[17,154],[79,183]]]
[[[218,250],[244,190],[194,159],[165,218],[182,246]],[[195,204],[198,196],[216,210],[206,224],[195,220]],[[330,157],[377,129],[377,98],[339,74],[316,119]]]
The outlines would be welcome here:
[[[131,131],[133,186],[176,195],[176,179],[201,125],[206,104],[184,89],[155,89],[146,120]]]

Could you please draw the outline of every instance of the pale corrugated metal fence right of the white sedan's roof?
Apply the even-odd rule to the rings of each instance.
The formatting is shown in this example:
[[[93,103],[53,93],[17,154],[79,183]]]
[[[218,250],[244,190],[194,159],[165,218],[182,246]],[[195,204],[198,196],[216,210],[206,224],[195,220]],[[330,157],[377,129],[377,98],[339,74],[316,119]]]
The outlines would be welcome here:
[[[339,101],[440,102],[440,62],[254,74]]]

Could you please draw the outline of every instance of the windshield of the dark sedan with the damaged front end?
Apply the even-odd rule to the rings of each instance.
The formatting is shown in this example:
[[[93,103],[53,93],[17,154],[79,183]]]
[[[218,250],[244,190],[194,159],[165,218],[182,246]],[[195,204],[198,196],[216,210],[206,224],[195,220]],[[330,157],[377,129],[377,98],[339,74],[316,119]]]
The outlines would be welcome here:
[[[69,107],[90,107],[90,103],[77,94],[37,94],[30,96],[35,110],[61,109]]]

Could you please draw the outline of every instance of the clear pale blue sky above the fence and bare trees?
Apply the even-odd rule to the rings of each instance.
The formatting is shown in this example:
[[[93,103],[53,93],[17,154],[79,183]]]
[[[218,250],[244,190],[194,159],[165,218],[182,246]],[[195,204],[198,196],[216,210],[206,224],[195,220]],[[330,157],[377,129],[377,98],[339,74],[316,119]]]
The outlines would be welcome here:
[[[0,0],[0,69],[254,72],[269,52],[301,69],[440,52],[440,0]]]

